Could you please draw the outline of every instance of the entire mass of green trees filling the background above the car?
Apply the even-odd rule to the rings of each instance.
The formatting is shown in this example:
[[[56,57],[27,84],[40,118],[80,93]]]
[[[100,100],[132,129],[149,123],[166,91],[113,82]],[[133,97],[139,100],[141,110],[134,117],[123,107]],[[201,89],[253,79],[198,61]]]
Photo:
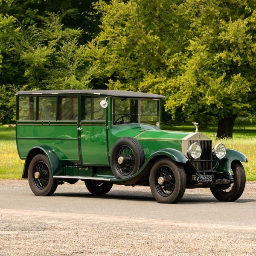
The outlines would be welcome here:
[[[237,116],[255,116],[255,9],[254,0],[0,0],[0,86],[160,93],[172,119],[215,118],[217,136],[232,137]]]

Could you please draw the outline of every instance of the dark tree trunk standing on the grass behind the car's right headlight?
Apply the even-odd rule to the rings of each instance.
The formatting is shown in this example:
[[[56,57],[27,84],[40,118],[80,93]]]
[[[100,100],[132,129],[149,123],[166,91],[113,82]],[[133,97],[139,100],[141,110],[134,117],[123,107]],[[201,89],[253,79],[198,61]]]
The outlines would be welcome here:
[[[224,117],[218,119],[218,131],[216,138],[232,138],[233,137],[233,127],[236,121],[236,116]]]

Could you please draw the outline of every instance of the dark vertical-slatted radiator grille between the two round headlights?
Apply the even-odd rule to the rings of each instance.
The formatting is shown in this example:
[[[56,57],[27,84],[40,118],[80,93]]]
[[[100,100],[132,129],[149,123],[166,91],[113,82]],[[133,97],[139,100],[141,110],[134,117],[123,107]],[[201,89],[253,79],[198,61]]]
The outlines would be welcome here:
[[[189,140],[189,146],[195,142],[201,146],[202,154],[197,160],[192,160],[191,163],[198,171],[212,169],[212,140]]]

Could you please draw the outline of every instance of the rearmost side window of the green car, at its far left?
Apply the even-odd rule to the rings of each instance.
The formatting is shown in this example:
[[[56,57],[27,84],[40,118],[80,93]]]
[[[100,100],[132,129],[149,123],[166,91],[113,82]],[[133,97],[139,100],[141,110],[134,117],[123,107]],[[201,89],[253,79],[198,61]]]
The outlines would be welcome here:
[[[19,96],[18,120],[35,120],[35,96]]]

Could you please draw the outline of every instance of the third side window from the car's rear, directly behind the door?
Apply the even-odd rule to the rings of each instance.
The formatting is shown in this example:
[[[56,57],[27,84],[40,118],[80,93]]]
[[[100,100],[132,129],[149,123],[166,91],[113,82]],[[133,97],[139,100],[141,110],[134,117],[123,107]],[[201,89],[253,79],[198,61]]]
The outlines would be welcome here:
[[[77,120],[78,97],[60,96],[58,98],[58,120]]]

